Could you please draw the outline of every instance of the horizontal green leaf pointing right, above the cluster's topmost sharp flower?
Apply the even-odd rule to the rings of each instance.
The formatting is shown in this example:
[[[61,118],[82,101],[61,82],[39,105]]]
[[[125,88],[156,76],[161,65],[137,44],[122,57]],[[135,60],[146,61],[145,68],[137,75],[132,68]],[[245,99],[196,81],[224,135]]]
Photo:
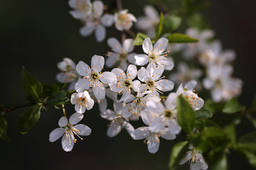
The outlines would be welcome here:
[[[169,43],[194,43],[198,42],[197,39],[184,35],[182,33],[172,33],[171,35],[167,36]]]

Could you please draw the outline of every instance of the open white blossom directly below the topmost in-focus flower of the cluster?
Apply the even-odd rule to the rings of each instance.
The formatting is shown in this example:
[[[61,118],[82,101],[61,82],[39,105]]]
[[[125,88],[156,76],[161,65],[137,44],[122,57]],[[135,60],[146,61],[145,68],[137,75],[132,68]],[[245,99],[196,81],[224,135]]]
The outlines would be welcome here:
[[[144,91],[150,90],[152,94],[159,96],[163,92],[171,91],[174,88],[174,83],[170,80],[161,77],[164,71],[163,66],[156,67],[155,69],[141,67],[138,71],[138,79],[144,82]]]

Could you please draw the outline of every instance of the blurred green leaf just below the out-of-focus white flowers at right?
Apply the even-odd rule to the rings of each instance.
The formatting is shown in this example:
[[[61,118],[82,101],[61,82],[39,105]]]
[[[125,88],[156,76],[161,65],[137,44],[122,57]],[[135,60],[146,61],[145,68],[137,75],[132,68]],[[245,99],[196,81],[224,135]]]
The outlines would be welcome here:
[[[236,113],[245,110],[245,106],[239,104],[238,100],[233,97],[225,104],[222,112],[224,113]]]

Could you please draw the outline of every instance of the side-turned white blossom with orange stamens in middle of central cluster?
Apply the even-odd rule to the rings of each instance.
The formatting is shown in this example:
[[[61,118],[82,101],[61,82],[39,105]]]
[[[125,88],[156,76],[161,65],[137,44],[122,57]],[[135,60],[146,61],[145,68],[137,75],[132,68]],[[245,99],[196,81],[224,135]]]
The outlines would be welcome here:
[[[152,95],[151,91],[146,91],[141,94],[129,95],[123,104],[126,103],[125,107],[122,109],[122,116],[125,118],[130,118],[130,116],[135,116],[137,119],[141,116],[141,112],[146,108],[146,103],[149,100],[160,101],[161,99],[158,96]],[[135,118],[134,117],[134,118]],[[136,120],[136,118],[135,118]]]

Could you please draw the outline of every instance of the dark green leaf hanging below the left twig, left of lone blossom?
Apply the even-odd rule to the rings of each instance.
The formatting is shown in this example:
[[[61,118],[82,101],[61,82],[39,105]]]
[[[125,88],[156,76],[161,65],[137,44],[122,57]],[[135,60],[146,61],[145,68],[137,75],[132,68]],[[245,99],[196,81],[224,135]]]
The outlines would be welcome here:
[[[40,117],[42,104],[35,104],[19,115],[18,129],[20,133],[26,134],[32,128]]]

